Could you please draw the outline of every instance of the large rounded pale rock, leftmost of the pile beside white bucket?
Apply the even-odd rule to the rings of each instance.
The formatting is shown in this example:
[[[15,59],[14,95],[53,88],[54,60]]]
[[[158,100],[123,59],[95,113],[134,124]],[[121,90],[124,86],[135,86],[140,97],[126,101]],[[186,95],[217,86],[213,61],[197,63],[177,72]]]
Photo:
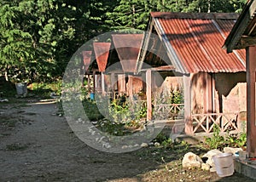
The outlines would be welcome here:
[[[183,157],[183,168],[201,168],[202,160],[192,152],[186,153]]]

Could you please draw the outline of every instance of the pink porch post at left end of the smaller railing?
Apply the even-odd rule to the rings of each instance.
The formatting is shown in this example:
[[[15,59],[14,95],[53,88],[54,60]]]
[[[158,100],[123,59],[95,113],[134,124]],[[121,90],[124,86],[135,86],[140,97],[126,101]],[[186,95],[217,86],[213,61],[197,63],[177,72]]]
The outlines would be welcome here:
[[[147,95],[147,121],[152,119],[152,98],[151,98],[151,86],[152,86],[152,74],[151,70],[146,71],[146,95]]]

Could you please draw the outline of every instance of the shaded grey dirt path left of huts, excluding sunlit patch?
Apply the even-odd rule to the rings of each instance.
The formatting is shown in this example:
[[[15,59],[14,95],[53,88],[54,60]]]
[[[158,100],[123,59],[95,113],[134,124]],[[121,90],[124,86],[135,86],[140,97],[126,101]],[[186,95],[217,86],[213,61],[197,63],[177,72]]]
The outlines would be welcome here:
[[[10,112],[9,106],[2,113]],[[149,162],[131,154],[99,152],[82,143],[64,117],[54,116],[55,104],[12,109],[18,123],[0,138],[0,181],[102,181],[143,173]],[[9,132],[9,131],[8,131]]]

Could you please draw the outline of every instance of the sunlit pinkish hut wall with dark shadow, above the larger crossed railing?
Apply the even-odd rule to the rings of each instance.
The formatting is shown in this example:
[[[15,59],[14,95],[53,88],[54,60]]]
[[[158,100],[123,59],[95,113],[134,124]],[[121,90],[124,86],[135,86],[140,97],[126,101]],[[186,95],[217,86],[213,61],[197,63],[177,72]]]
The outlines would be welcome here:
[[[192,114],[246,111],[246,73],[191,75]]]

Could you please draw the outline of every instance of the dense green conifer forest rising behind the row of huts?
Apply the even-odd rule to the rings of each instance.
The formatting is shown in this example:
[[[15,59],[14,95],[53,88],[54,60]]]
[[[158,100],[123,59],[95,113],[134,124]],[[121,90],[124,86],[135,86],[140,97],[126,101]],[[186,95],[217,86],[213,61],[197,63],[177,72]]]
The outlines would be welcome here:
[[[73,53],[103,32],[146,30],[148,14],[241,12],[247,0],[0,0],[0,76],[58,79]]]

